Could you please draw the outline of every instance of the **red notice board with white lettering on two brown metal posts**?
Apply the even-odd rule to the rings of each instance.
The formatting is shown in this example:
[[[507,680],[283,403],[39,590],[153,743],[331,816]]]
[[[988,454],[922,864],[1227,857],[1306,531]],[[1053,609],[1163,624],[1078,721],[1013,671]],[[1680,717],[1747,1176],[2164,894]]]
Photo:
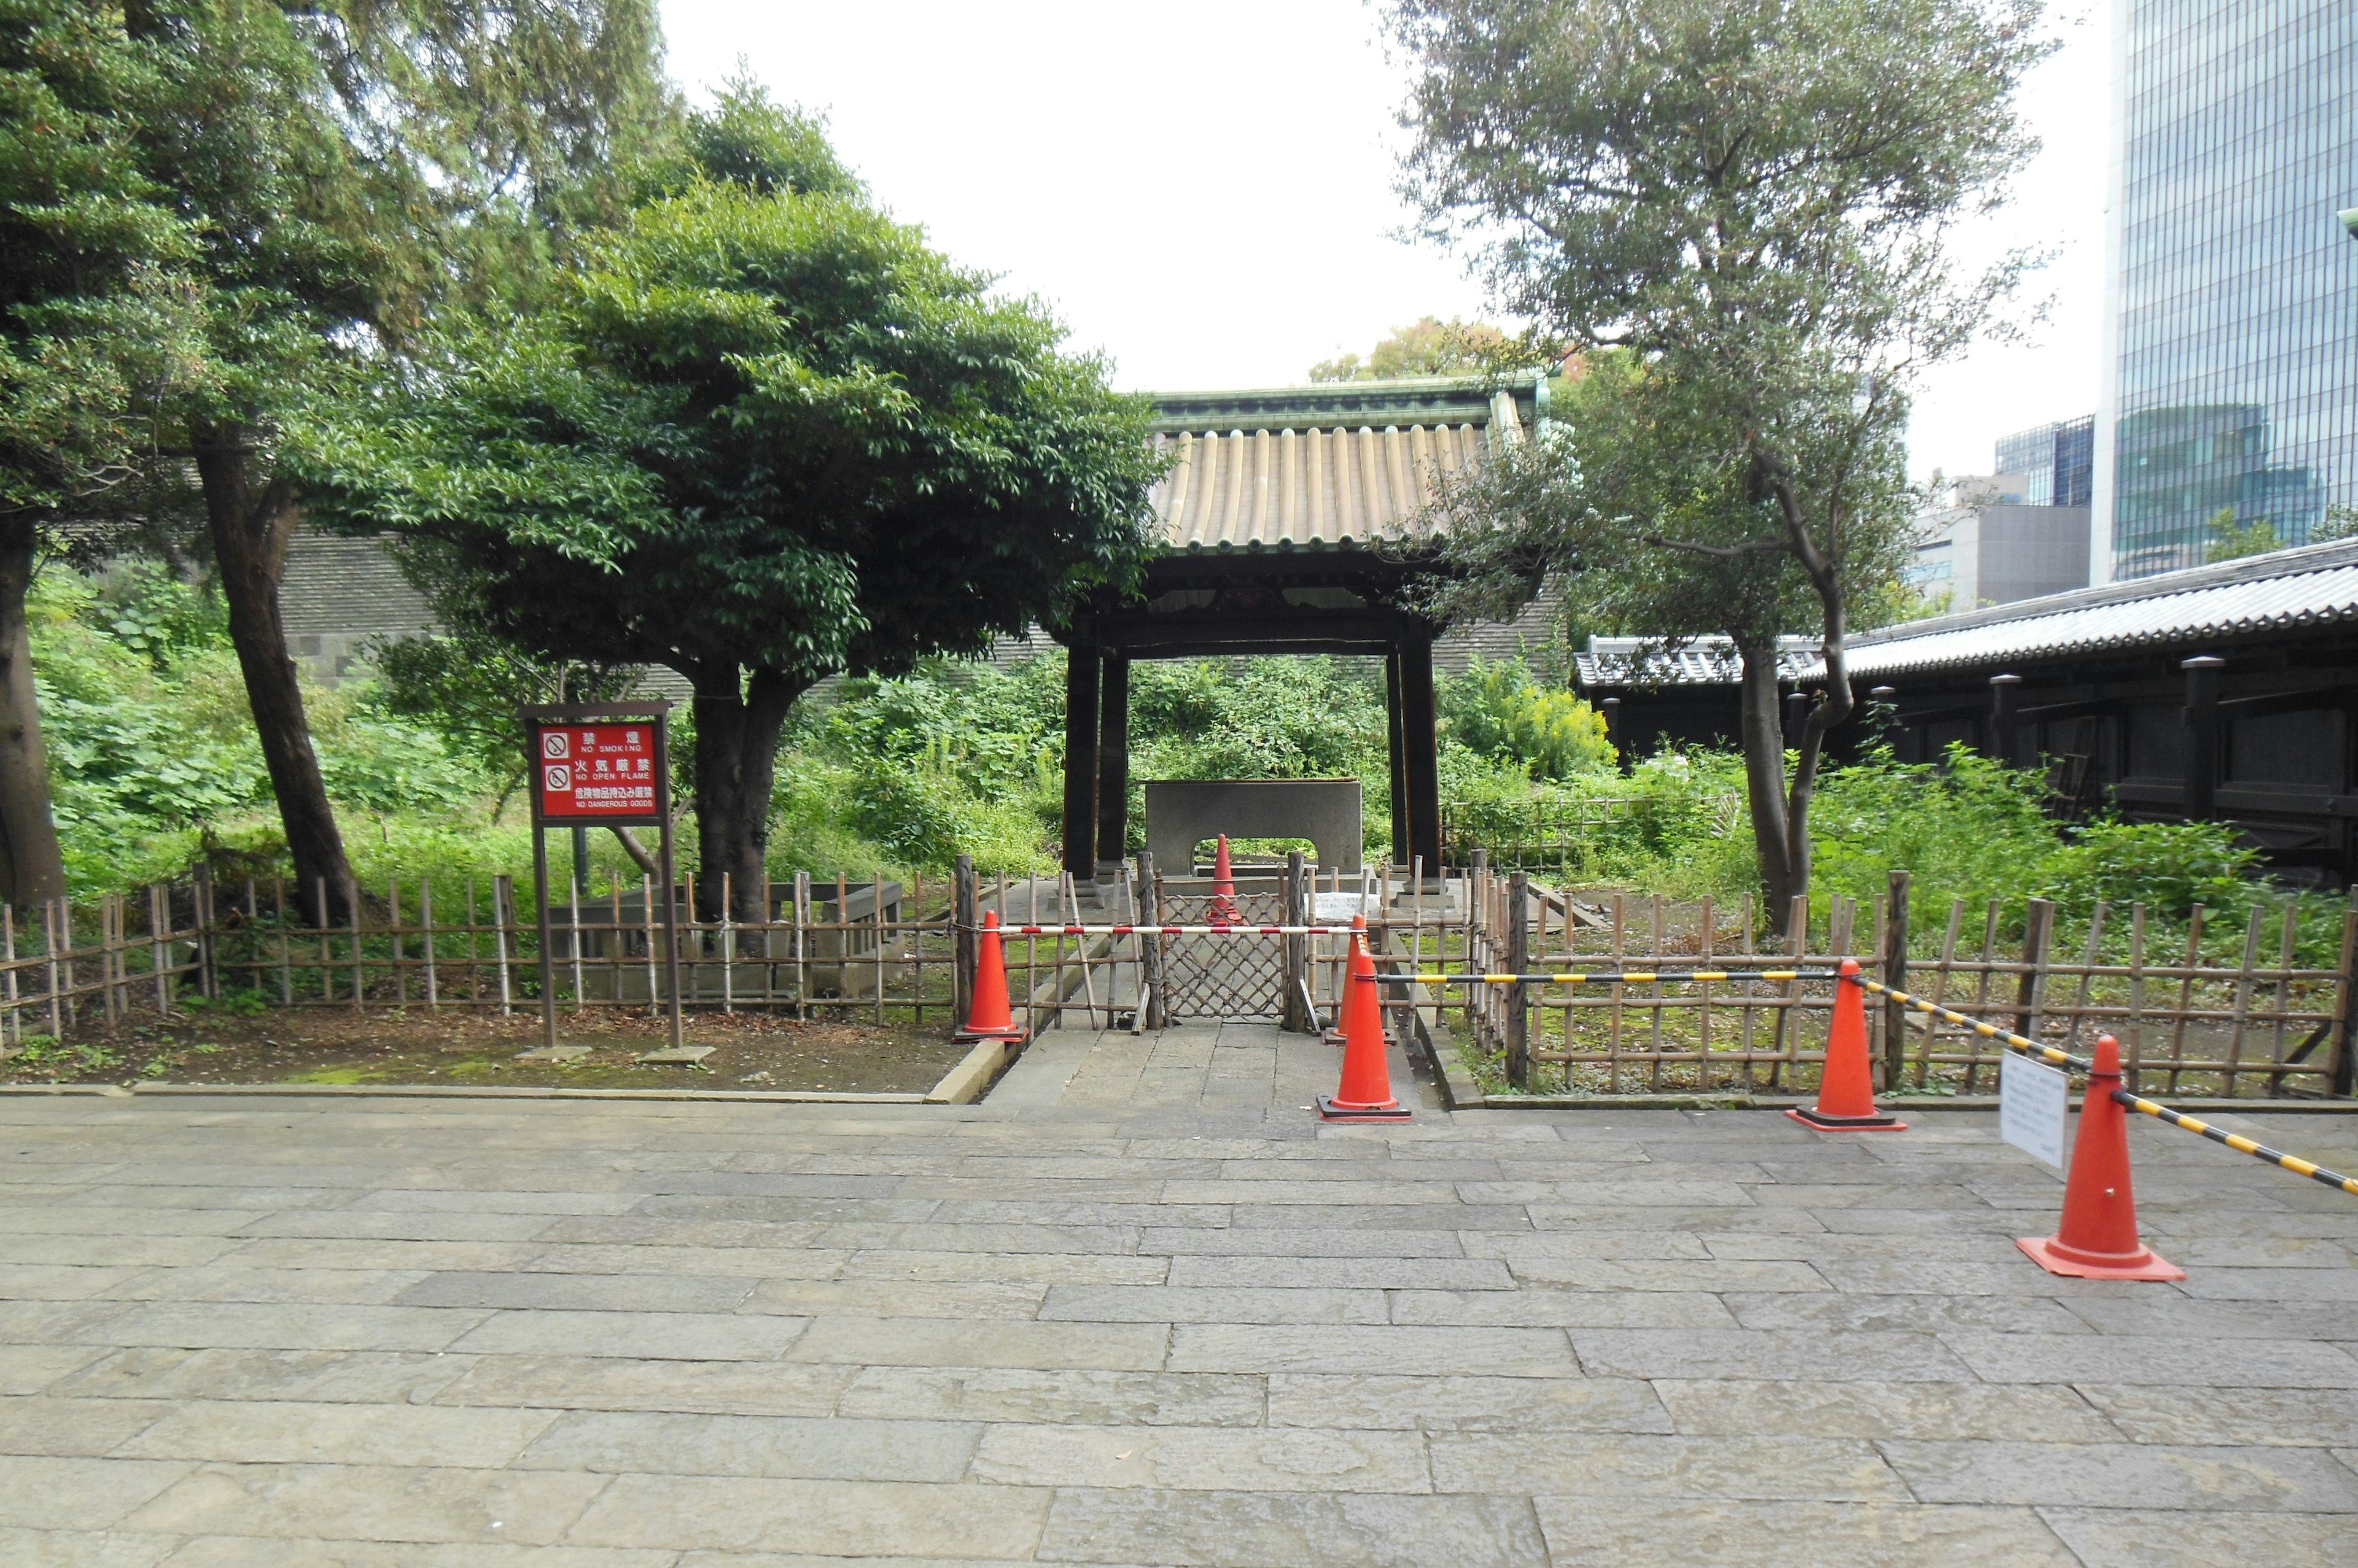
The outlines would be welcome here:
[[[556,1049],[556,976],[549,960],[549,828],[571,828],[575,879],[590,828],[656,828],[663,896],[663,979],[670,990],[672,1049],[686,1045],[679,1019],[679,901],[672,887],[670,703],[573,703],[519,707],[533,797],[533,898],[540,910],[540,1030]],[[623,931],[615,927],[615,941]],[[578,943],[580,927],[573,927]],[[648,997],[653,1000],[653,997]]]

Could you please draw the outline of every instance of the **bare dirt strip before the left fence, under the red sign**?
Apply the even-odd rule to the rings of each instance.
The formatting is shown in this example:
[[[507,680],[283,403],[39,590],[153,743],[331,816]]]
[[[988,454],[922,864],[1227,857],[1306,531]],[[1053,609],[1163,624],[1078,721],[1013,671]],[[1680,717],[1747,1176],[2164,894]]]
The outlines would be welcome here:
[[[559,1014],[556,1040],[587,1045],[575,1061],[516,1061],[540,1045],[540,1016],[387,1009],[189,1009],[132,1019],[113,1033],[33,1037],[0,1082],[316,1082],[500,1085],[568,1089],[802,1089],[922,1094],[964,1047],[908,1026],[799,1021],[769,1014],[691,1014],[698,1066],[632,1061],[670,1045],[660,1014]]]

